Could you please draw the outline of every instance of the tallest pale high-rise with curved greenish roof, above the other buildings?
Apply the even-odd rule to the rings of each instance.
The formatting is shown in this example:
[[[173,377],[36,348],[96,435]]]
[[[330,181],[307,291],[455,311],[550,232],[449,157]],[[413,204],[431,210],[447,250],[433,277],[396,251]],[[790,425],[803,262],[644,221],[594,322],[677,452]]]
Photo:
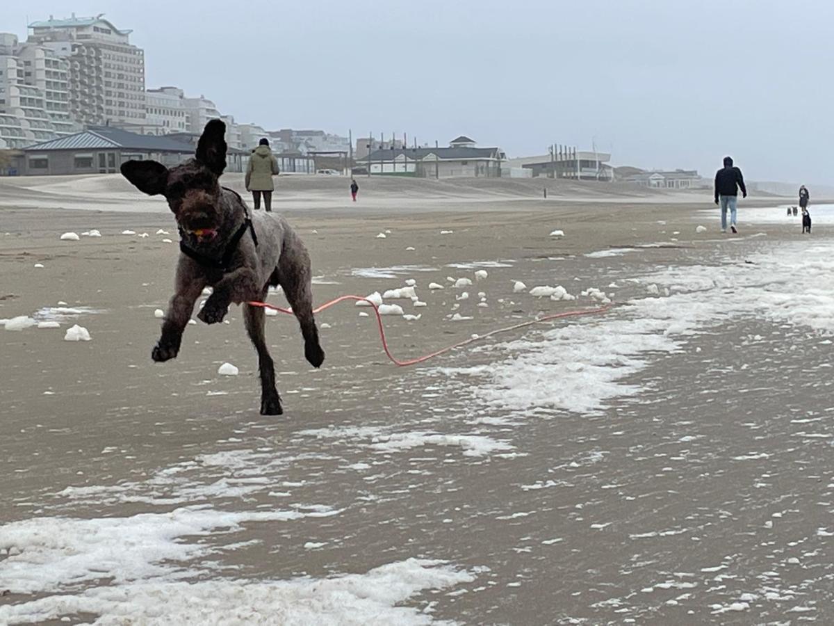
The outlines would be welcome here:
[[[94,18],[48,20],[29,24],[29,43],[68,58],[71,117],[83,124],[143,124],[145,121],[144,51],[130,43],[103,13]]]

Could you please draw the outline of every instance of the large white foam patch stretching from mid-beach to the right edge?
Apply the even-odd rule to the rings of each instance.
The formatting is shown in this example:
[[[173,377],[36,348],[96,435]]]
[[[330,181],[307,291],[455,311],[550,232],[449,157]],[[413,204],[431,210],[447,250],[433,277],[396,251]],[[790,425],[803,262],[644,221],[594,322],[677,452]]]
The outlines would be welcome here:
[[[687,338],[743,316],[834,333],[834,242],[773,245],[716,265],[672,267],[646,276],[671,295],[631,300],[603,316],[497,348],[506,357],[488,366],[441,368],[451,385],[481,405],[529,415],[535,411],[593,414],[642,390],[627,381]],[[593,294],[591,293],[593,291]],[[599,299],[599,290],[585,293]],[[615,338],[615,339],[614,339]],[[455,384],[457,379],[457,384]],[[474,380],[473,380],[474,379]]]

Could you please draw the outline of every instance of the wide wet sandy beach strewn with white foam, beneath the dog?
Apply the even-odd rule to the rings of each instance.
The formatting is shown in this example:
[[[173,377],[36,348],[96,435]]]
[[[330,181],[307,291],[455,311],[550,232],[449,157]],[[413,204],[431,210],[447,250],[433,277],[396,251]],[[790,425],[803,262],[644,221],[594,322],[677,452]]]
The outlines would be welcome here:
[[[761,197],[721,235],[708,190],[278,182],[317,303],[416,281],[425,307],[386,300],[420,316],[384,317],[395,356],[612,308],[397,368],[339,305],[319,371],[271,316],[285,412],[260,416],[239,309],[150,360],[162,199],[0,179],[0,318],[58,322],[0,324],[0,623],[834,620],[830,226],[759,223]]]

